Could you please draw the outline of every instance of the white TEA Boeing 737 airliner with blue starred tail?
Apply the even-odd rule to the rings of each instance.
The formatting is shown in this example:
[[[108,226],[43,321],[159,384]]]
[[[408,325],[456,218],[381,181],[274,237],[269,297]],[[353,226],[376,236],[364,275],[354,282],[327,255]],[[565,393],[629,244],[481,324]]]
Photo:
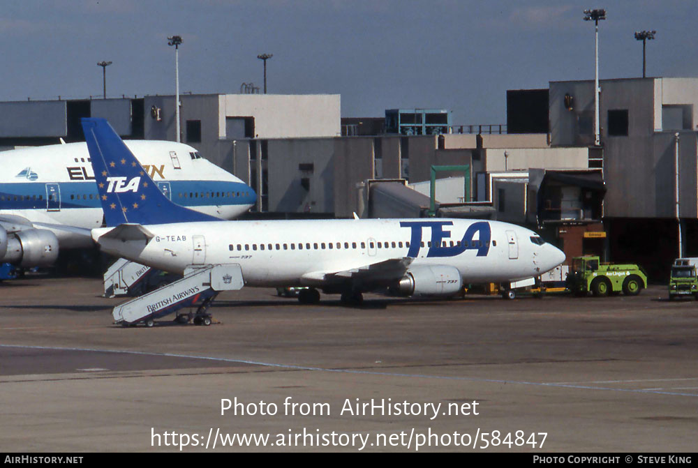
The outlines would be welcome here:
[[[107,227],[103,251],[173,273],[237,264],[252,287],[306,286],[358,303],[388,287],[406,296],[450,296],[463,282],[510,282],[565,260],[529,229],[461,219],[222,221],[172,204],[104,119],[82,119]],[[226,279],[230,281],[229,279]]]

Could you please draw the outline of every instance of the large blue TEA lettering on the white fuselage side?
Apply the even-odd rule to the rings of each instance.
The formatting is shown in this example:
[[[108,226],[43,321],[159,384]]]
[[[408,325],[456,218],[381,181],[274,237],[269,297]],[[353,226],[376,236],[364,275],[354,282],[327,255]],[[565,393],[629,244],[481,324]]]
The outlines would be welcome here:
[[[451,232],[444,229],[445,226],[452,226],[453,221],[401,221],[401,227],[410,227],[412,236],[410,238],[410,250],[408,257],[418,257],[422,248],[422,229],[431,229],[431,245],[427,257],[455,257],[466,250],[477,250],[477,257],[487,257],[489,253],[489,243],[492,237],[492,230],[487,221],[473,222],[460,241],[446,246],[444,239],[450,239]],[[477,234],[477,239],[475,239]]]

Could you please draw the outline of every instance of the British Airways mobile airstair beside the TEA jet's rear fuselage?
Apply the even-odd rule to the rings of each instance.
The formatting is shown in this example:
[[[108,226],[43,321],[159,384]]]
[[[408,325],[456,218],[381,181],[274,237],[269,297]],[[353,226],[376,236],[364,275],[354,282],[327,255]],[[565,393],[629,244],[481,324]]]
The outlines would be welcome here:
[[[242,289],[243,285],[239,264],[189,266],[181,280],[117,305],[112,310],[112,316],[115,323],[124,326],[139,323],[153,326],[154,320],[159,317],[183,308],[196,308],[196,312],[178,314],[175,321],[210,325],[211,315],[207,310],[218,293]]]

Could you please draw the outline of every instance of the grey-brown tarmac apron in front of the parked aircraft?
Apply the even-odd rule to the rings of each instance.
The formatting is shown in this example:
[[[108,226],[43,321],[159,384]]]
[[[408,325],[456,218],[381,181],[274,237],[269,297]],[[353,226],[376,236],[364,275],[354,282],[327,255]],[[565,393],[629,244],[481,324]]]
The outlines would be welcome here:
[[[218,323],[151,329],[112,324],[124,299],[101,291],[0,283],[4,451],[696,448],[698,301],[665,287],[361,308],[245,288],[219,296]],[[242,435],[268,438],[225,438]]]

